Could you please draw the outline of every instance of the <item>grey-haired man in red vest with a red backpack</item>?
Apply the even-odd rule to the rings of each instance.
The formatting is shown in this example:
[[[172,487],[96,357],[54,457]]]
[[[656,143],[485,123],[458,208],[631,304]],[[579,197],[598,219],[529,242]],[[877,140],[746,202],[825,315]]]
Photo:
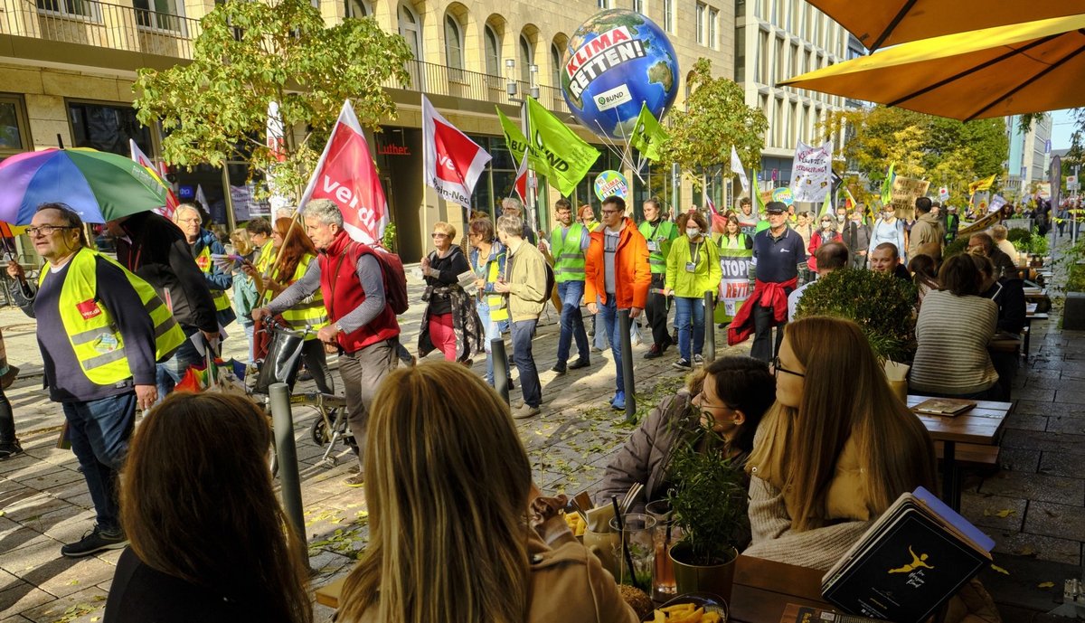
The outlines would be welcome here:
[[[318,266],[283,290],[267,307],[253,310],[257,322],[280,314],[318,289],[331,323],[317,336],[340,352],[340,374],[346,391],[347,422],[358,444],[358,463],[366,448],[369,408],[384,376],[398,357],[399,323],[384,297],[384,277],[374,251],[350,239],[343,229],[343,214],[327,199],[305,206],[306,232],[320,251]],[[346,479],[361,486],[363,473]]]

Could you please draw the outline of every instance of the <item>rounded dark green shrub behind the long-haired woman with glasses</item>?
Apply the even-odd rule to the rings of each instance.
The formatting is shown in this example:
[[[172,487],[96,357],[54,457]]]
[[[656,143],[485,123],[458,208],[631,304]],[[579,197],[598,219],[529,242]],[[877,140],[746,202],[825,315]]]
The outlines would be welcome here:
[[[879,358],[908,361],[915,352],[917,296],[910,281],[891,274],[834,270],[803,292],[795,318],[847,318],[863,329]]]

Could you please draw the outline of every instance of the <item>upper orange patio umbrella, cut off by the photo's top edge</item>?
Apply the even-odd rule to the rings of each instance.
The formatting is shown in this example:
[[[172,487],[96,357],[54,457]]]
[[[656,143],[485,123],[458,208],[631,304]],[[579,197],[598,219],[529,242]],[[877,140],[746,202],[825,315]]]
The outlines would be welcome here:
[[[806,0],[871,52],[1022,21],[1085,13],[1085,0]]]

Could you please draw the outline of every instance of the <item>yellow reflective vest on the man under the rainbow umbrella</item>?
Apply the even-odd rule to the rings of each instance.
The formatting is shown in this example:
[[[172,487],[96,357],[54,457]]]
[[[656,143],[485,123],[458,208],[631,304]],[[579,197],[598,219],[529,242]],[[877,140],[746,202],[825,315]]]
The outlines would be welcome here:
[[[184,343],[184,332],[150,283],[97,251],[84,247],[76,252],[64,283],[61,284],[61,321],[87,378],[98,385],[114,385],[131,378],[132,372],[125,354],[124,336],[113,321],[114,316],[122,310],[106,309],[98,301],[97,257],[124,271],[143,302],[143,309],[151,315],[154,322],[155,360],[162,361]],[[38,277],[39,289],[50,275],[52,271],[47,264]],[[127,309],[124,312],[132,313]]]

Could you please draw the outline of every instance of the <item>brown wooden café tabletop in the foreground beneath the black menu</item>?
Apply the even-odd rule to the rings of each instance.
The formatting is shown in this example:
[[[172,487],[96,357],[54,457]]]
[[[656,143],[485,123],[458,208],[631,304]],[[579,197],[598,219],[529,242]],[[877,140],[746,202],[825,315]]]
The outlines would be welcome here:
[[[832,610],[821,598],[822,575],[825,572],[817,569],[739,556],[728,620],[776,623],[788,603]]]

